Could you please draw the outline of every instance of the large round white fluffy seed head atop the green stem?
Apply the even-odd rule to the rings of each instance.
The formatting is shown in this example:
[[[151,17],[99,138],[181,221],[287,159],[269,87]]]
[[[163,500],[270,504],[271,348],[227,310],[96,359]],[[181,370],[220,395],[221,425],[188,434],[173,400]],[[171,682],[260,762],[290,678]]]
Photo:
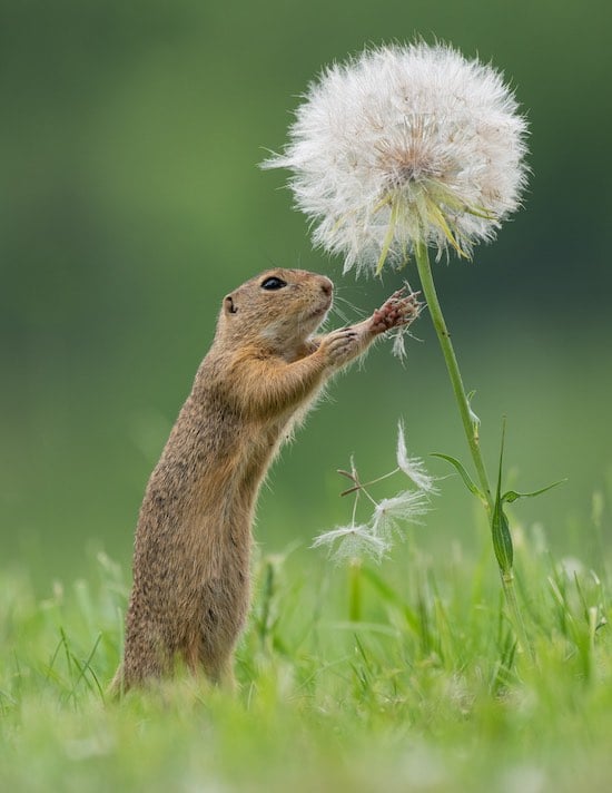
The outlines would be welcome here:
[[[520,205],[526,123],[499,72],[446,46],[366,51],[327,68],[284,154],[314,242],[345,270],[402,263],[416,244],[470,255]]]

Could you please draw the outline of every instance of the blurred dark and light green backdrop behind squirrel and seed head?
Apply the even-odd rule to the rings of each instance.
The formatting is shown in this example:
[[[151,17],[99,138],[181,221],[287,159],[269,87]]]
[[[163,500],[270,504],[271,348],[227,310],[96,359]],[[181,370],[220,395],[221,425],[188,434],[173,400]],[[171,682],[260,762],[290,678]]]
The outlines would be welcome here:
[[[313,252],[286,174],[257,164],[324,65],[415,35],[491,60],[529,115],[525,209],[474,263],[437,265],[437,284],[491,463],[507,414],[512,484],[569,477],[515,520],[594,557],[608,512],[593,520],[593,493],[612,479],[611,9],[0,2],[0,564],[41,587],[81,575],[96,548],[128,567],[147,477],[220,298],[246,277],[270,264],[329,272],[367,311],[396,286],[356,284]],[[351,453],[364,477],[393,467],[401,415],[413,453],[467,458],[426,316],[415,333],[406,369],[381,345],[285,450],[258,510],[264,550],[346,520],[335,469]],[[416,529],[432,554],[478,541],[456,477],[442,490]]]

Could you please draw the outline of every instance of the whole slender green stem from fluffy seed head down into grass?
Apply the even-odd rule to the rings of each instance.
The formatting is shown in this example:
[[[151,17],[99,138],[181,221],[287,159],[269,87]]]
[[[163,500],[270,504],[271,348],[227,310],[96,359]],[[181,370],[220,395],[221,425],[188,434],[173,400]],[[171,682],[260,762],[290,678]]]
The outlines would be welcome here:
[[[437,300],[437,294],[435,291],[434,280],[432,275],[432,268],[430,266],[430,255],[427,252],[427,246],[423,243],[418,243],[415,246],[415,258],[416,266],[418,268],[418,276],[421,278],[421,285],[423,287],[423,294],[425,295],[425,300],[430,309],[430,314],[434,323],[440,346],[442,347],[444,361],[446,362],[446,369],[448,370],[448,375],[453,385],[453,392],[455,394],[455,401],[457,403],[461,420],[463,422],[463,429],[467,439],[467,446],[470,447],[472,460],[474,462],[474,467],[478,476],[482,502],[486,509],[488,522],[491,525],[493,510],[495,508],[495,501],[491,492],[488,477],[486,476],[486,469],[481,453],[478,427],[477,423],[474,422],[472,412],[470,410],[470,401],[463,386],[463,380],[461,376],[457,359],[453,349],[453,344],[451,342],[451,334],[448,333],[448,329],[446,327],[446,322],[444,321],[442,307],[440,305],[440,301]],[[521,615],[521,609],[519,607],[519,601],[516,599],[516,593],[514,589],[514,576],[512,574],[512,567],[506,570],[502,570],[502,568],[500,568],[500,576],[502,578],[502,588],[504,590],[506,604],[510,610],[511,619],[514,625],[516,637],[519,639],[519,643],[525,648],[525,650],[531,654],[531,645],[529,643],[525,625],[523,623],[523,617]]]

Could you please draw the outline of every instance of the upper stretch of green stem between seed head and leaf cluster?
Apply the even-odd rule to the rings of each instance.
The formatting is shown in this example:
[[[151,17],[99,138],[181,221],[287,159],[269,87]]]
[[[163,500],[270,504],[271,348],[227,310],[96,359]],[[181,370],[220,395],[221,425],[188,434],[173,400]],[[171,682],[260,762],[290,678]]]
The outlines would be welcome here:
[[[418,244],[416,246],[415,258],[416,266],[418,268],[418,277],[421,278],[421,285],[423,286],[423,294],[425,295],[425,301],[427,302],[427,307],[434,323],[440,346],[442,347],[442,354],[444,355],[444,361],[446,362],[446,369],[448,370],[451,383],[453,384],[453,392],[455,394],[461,420],[463,422],[467,446],[470,447],[472,460],[474,461],[474,467],[481,483],[481,490],[486,501],[485,506],[488,512],[492,513],[494,501],[493,496],[491,495],[491,487],[488,484],[488,478],[486,476],[486,469],[481,453],[477,427],[472,420],[470,402],[467,401],[465,389],[463,388],[463,380],[461,378],[453,343],[451,342],[451,334],[446,327],[440,301],[437,300],[426,245]]]

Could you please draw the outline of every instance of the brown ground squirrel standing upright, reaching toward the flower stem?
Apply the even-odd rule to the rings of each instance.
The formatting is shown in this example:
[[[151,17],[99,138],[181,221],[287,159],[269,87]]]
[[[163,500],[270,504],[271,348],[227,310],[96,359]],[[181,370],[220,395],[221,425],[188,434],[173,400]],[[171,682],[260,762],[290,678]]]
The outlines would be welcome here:
[[[418,315],[416,296],[401,290],[364,322],[312,336],[333,291],[323,275],[275,268],[224,298],[140,508],[113,691],[169,674],[177,659],[233,682],[255,501],[274,456],[330,375]]]

